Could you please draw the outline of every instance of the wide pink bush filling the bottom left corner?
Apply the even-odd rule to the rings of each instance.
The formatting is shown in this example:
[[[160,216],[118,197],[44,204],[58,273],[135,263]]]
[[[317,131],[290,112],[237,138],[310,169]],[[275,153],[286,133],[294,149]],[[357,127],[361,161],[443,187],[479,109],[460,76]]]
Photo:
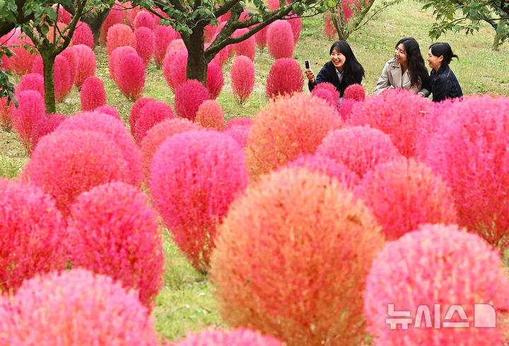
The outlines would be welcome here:
[[[24,282],[0,316],[5,345],[158,345],[137,292],[88,270]]]

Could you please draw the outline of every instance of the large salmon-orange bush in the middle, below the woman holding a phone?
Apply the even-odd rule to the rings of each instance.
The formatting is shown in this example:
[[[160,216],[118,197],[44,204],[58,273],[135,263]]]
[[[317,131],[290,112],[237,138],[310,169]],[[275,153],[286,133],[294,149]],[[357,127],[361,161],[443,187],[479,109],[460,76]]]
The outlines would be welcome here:
[[[247,170],[256,177],[312,154],[331,129],[343,127],[336,109],[309,94],[271,101],[254,118],[246,144]]]

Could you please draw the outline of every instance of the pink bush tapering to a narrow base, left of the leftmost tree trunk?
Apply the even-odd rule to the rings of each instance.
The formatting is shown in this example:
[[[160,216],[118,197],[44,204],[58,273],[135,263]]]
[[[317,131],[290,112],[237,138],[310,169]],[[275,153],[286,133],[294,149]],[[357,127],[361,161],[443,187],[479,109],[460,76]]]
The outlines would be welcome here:
[[[35,123],[45,116],[45,100],[40,93],[33,90],[22,91],[16,95],[18,108],[12,111],[12,126],[18,132],[19,139],[30,153],[32,150],[32,128]]]

